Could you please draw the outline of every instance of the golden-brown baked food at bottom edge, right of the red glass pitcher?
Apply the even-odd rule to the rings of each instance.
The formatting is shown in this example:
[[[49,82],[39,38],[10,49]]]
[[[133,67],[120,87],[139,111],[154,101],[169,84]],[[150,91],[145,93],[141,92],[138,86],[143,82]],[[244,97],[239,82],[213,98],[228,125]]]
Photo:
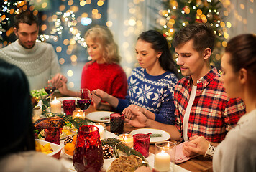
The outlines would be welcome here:
[[[110,165],[108,172],[135,171],[140,166],[147,166],[138,156],[120,156]]]

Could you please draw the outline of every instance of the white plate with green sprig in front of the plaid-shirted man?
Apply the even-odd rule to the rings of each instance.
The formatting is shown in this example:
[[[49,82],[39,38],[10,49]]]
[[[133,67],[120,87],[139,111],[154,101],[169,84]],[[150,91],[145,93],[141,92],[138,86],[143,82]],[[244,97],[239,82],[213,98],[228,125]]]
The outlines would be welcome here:
[[[164,130],[158,130],[154,128],[140,128],[137,130],[133,130],[130,134],[135,135],[135,134],[147,134],[147,133],[152,133],[152,134],[161,134],[161,137],[153,137],[150,138],[150,143],[156,143],[157,141],[165,141],[170,138],[170,134],[165,132]]]

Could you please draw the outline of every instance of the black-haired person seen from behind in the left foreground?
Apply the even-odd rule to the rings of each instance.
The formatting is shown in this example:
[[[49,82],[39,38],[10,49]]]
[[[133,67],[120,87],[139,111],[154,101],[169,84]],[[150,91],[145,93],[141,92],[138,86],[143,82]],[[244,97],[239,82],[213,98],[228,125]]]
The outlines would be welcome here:
[[[1,172],[67,171],[57,159],[35,151],[32,103],[24,72],[0,59],[0,80]]]

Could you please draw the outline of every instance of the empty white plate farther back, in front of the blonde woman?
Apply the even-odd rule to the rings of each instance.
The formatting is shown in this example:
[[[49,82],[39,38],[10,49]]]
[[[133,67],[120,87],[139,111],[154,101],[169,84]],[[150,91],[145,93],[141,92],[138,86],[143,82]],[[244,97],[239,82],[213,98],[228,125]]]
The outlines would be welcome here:
[[[99,122],[99,123],[110,123],[110,114],[114,112],[109,112],[109,111],[96,111],[93,113],[88,113],[86,115],[86,118],[88,120],[91,120],[93,122]],[[101,118],[107,117],[109,119],[106,120],[101,120]]]

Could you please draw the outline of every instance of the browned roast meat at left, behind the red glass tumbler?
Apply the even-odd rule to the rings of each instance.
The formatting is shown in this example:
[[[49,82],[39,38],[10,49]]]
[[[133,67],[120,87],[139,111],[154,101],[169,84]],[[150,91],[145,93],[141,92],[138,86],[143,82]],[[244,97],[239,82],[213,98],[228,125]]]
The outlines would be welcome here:
[[[49,127],[63,128],[64,125],[65,121],[63,118],[60,117],[40,118],[34,123],[35,129],[39,132]]]

